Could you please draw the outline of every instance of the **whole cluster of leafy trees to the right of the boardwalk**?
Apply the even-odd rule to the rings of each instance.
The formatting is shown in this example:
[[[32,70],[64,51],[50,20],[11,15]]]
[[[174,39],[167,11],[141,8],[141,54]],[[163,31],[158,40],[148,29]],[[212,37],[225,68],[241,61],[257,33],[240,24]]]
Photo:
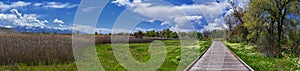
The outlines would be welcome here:
[[[233,13],[225,16],[227,40],[253,43],[268,56],[299,55],[300,0],[250,0],[239,7],[231,2]]]

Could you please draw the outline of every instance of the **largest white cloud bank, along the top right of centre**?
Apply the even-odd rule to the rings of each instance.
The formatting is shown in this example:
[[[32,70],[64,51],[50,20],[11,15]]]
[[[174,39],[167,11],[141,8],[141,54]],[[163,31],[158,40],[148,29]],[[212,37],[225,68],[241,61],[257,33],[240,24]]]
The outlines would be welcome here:
[[[115,0],[112,3],[118,6],[126,6],[132,12],[138,13],[151,20],[162,21],[161,25],[170,25],[175,30],[193,30],[193,24],[201,24],[201,19],[219,18],[225,9],[229,7],[228,2],[207,2],[206,4],[192,5],[160,5],[141,0]]]

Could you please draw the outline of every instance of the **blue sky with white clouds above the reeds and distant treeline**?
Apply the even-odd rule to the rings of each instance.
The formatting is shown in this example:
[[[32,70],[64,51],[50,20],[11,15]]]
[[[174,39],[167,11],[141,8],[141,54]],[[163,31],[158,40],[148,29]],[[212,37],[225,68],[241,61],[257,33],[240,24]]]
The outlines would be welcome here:
[[[0,27],[48,27],[86,33],[225,27],[232,0],[1,0]],[[236,0],[244,7],[249,1]]]

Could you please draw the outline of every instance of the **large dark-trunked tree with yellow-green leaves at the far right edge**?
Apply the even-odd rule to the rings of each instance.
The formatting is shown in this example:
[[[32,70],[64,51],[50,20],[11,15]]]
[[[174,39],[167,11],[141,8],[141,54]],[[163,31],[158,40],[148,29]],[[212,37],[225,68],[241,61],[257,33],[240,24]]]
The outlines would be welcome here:
[[[273,53],[279,54],[282,44],[293,40],[289,32],[295,31],[299,23],[299,0],[251,0],[243,19],[243,26],[249,29],[247,39],[259,41],[256,43],[262,47],[278,49]]]

